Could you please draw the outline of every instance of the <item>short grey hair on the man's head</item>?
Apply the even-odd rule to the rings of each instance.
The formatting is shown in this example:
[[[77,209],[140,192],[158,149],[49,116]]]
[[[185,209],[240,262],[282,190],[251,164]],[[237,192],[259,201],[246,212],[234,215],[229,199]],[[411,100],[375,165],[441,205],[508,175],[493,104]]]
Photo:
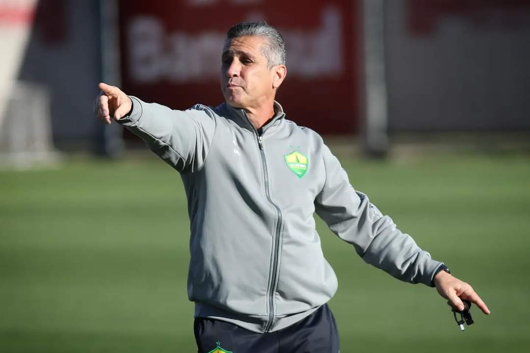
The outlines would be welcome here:
[[[267,22],[240,22],[234,24],[226,33],[226,42],[233,38],[262,36],[267,38],[262,53],[267,58],[268,67],[285,65],[285,41],[280,32]]]

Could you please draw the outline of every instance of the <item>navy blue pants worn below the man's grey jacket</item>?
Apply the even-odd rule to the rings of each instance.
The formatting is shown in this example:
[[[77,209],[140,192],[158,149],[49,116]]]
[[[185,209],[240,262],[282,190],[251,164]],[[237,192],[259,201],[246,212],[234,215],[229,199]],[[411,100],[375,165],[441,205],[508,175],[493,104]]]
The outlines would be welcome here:
[[[204,317],[196,317],[193,326],[198,353],[340,352],[337,324],[328,304],[303,320],[275,332],[256,333]]]

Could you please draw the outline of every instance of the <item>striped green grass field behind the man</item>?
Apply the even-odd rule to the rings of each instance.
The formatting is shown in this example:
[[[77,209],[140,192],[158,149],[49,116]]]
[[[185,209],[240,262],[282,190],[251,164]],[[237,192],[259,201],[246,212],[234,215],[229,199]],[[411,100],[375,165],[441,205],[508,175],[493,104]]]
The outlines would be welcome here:
[[[460,332],[434,289],[368,266],[319,222],[342,352],[528,351],[530,157],[341,160],[492,312],[474,307]],[[196,351],[188,237],[180,177],[154,155],[0,172],[0,352]]]

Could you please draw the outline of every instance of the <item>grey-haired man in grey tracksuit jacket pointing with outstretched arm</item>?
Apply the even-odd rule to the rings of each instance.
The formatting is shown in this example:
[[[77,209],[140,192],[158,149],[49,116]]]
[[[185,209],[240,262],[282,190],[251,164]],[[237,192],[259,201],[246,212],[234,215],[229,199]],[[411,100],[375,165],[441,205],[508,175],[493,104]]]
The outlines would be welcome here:
[[[171,110],[100,84],[98,117],[133,131],[181,173],[199,352],[339,351],[326,304],[337,278],[323,257],[314,212],[367,263],[436,286],[459,310],[468,299],[489,314],[470,285],[350,186],[318,134],[285,119],[274,99],[286,74],[280,33],[246,22],[227,33],[226,102],[218,107]]]

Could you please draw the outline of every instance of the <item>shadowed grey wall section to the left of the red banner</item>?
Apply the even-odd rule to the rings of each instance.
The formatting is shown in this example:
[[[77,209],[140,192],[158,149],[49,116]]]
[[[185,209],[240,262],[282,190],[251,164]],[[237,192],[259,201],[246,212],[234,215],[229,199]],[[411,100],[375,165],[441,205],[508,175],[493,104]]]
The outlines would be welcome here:
[[[65,18],[56,19],[66,21],[64,41],[49,43],[33,28],[19,74],[20,80],[48,87],[52,131],[59,143],[93,138],[98,126],[92,102],[101,80],[98,1],[64,3]]]

